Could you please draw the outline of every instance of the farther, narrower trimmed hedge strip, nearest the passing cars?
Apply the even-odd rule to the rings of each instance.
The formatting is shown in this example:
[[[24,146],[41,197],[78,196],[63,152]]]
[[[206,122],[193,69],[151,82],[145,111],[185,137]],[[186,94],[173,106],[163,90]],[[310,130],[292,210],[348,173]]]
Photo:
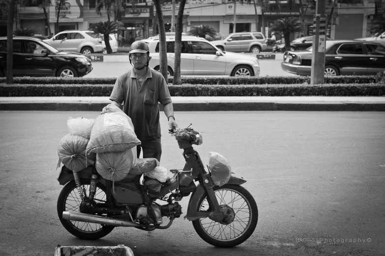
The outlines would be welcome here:
[[[182,84],[190,85],[293,85],[310,84],[310,77],[182,77]],[[325,84],[370,84],[381,79],[379,76],[337,76],[325,77]],[[28,85],[114,85],[116,78],[59,78],[59,77],[15,77],[15,84]],[[173,84],[173,78],[168,79]],[[0,78],[5,83],[5,78]]]

